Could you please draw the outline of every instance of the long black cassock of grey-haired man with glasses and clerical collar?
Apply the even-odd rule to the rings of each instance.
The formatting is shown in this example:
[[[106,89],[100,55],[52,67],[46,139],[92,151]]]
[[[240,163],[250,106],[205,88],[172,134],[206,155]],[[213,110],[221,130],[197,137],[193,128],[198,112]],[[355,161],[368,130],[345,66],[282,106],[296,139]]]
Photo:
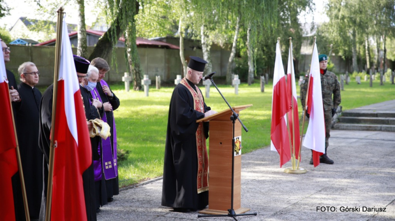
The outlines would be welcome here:
[[[26,195],[31,219],[39,219],[42,192],[42,152],[39,148],[39,116],[41,93],[21,83],[19,96],[23,102],[16,108],[16,128],[25,178]],[[23,203],[23,202],[21,202]]]

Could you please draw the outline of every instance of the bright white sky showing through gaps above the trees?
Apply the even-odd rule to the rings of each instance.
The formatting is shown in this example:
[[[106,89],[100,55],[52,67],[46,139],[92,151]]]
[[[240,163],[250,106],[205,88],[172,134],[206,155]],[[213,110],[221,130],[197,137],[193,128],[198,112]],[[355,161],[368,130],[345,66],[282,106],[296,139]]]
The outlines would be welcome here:
[[[9,7],[11,7],[10,15],[5,16],[0,19],[0,27],[6,27],[8,30],[15,24],[19,17],[28,17],[31,19],[42,19],[42,17],[38,14],[37,8],[38,6],[33,0],[4,0]],[[43,0],[42,0],[43,1]],[[74,0],[70,0],[73,2]],[[89,0],[85,1],[85,23],[88,26],[91,26],[93,22],[96,20],[97,12],[94,11],[93,7],[87,5]],[[100,2],[100,1],[97,1]],[[316,10],[312,14],[307,14],[306,19],[304,16],[300,16],[299,19],[301,22],[311,23],[313,20],[313,16],[315,18],[315,23],[321,23],[324,21],[328,21],[328,17],[324,14],[324,4],[327,0],[313,0],[316,4]],[[61,6],[61,5],[59,5]],[[66,22],[71,24],[77,24],[77,10],[72,6],[65,7],[66,12]],[[54,12],[54,21],[56,21],[56,12]]]

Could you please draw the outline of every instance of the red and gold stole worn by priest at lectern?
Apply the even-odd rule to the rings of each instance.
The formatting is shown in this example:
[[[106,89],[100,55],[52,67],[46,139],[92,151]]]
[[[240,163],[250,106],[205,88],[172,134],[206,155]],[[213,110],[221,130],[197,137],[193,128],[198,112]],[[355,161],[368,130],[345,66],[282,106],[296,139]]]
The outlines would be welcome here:
[[[183,78],[180,82],[187,87],[194,98],[194,109],[204,113],[203,95],[196,86],[196,91],[189,85],[187,80]],[[197,193],[208,190],[208,155],[206,147],[206,138],[204,137],[203,123],[200,122],[196,131],[196,148],[197,148]]]

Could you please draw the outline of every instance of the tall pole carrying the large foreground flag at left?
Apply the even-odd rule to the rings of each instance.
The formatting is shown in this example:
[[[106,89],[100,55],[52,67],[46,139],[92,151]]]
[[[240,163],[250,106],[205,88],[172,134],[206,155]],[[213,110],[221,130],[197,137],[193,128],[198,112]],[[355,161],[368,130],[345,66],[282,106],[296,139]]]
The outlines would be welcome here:
[[[60,7],[57,10],[58,21],[56,27],[56,48],[55,48],[55,71],[53,77],[53,100],[52,100],[52,121],[51,121],[51,136],[54,135],[55,129],[55,115],[56,115],[56,101],[58,94],[58,76],[60,66],[60,52],[62,48],[62,27],[63,27],[63,16],[64,9]],[[51,220],[51,203],[52,203],[52,178],[53,178],[53,163],[55,159],[55,148],[57,146],[56,140],[51,139],[51,146],[49,151],[49,165],[48,165],[48,189],[46,195],[46,209],[45,209],[45,221]]]

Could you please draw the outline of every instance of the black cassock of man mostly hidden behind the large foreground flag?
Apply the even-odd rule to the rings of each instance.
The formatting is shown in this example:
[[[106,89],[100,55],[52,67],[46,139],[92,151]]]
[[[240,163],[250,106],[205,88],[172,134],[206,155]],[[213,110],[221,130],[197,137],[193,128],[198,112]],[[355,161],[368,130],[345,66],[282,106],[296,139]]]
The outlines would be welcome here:
[[[85,107],[85,116],[88,120],[99,118],[99,113],[94,106],[89,104],[89,95],[84,88],[79,87]],[[92,95],[90,95],[91,97]],[[44,191],[41,200],[41,212],[40,221],[45,219],[45,203],[46,203],[46,191],[48,181],[48,161],[49,161],[49,147],[50,140],[49,135],[51,131],[52,121],[52,99],[53,99],[53,84],[49,86],[41,98],[40,103],[40,131],[39,131],[39,146],[40,150],[45,157],[44,165]],[[92,140],[91,140],[92,142]],[[97,147],[98,143],[96,143]],[[92,150],[92,158],[98,158],[97,148],[96,151]],[[88,221],[96,221],[96,205],[95,205],[95,184],[93,174],[93,163],[82,173],[82,182],[85,198],[86,216]]]

